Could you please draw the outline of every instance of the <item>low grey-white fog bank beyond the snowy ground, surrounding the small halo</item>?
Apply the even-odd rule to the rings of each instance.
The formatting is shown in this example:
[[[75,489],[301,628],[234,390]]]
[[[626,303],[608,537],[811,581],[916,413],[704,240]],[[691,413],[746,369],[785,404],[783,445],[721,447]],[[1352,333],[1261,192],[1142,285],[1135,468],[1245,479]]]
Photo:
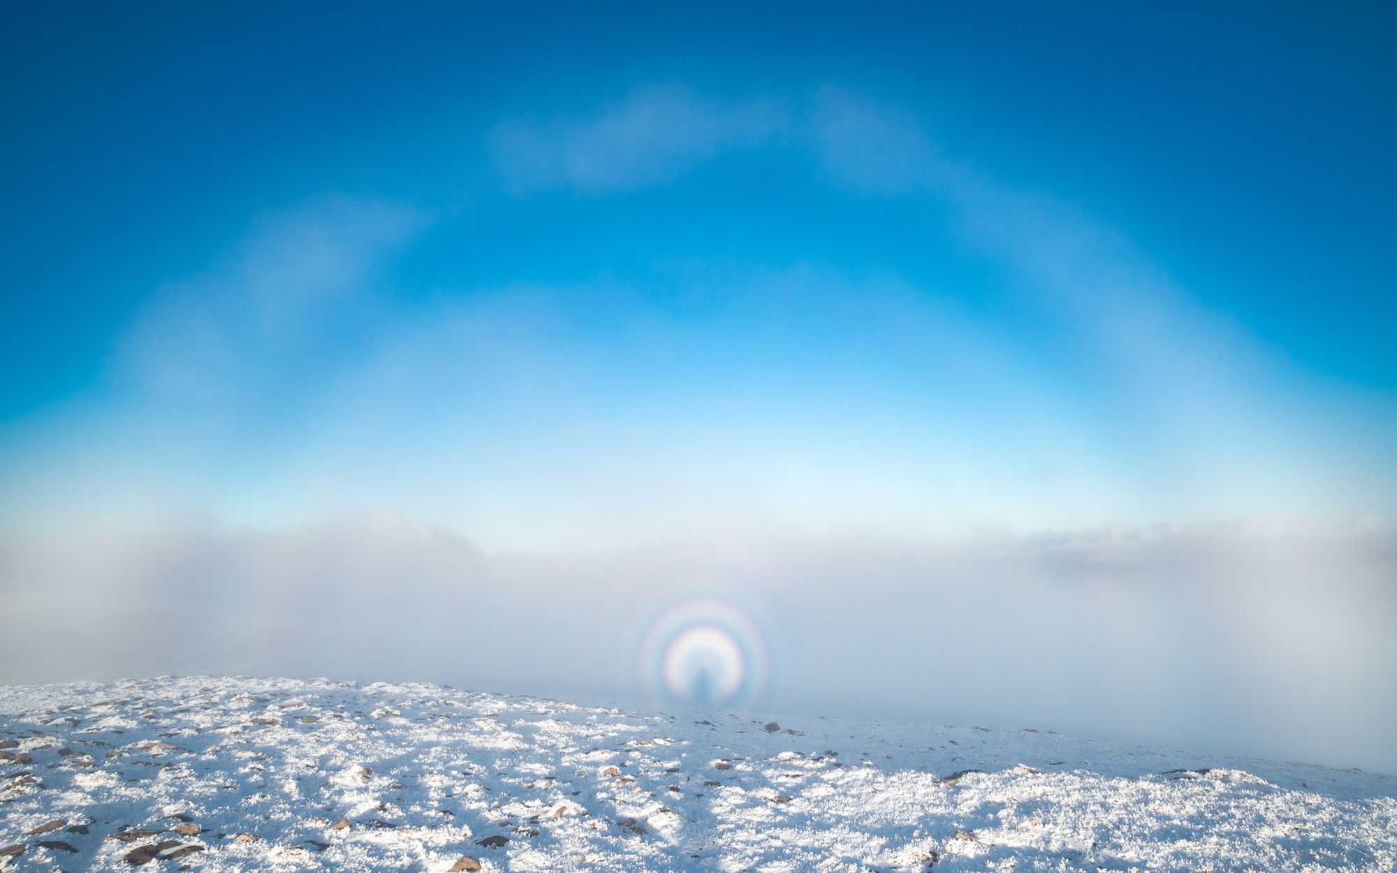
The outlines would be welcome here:
[[[1380,524],[566,555],[485,555],[395,515],[11,539],[0,682],[324,675],[636,698],[647,623],[705,596],[766,637],[761,708],[1390,772],[1394,573]]]

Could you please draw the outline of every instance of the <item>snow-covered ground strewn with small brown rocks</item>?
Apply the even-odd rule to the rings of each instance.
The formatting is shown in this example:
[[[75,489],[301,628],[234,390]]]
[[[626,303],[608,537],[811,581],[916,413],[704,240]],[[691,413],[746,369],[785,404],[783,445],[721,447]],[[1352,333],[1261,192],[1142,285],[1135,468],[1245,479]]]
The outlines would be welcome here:
[[[0,687],[0,869],[942,873],[1397,862],[1394,777],[1028,729],[778,721],[426,684]]]

